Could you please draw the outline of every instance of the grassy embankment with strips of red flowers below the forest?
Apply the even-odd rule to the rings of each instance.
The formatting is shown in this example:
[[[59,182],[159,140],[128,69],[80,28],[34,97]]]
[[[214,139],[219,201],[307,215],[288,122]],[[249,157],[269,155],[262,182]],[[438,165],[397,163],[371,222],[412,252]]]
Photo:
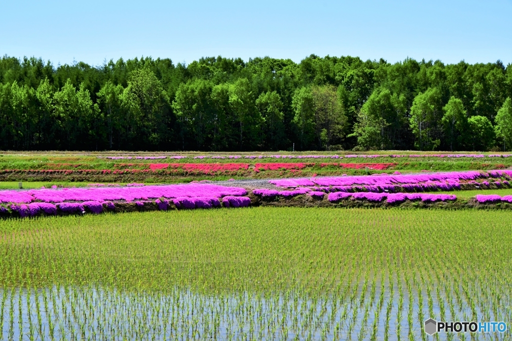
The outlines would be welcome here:
[[[395,152],[407,155],[406,152]],[[161,153],[152,153],[158,156]],[[246,153],[251,154],[251,153]],[[252,153],[258,155],[261,153]],[[272,155],[272,153],[265,153]],[[286,153],[295,157],[305,153]],[[315,153],[309,153],[315,154]],[[326,153],[317,155],[325,155]],[[333,154],[333,153],[331,153]],[[390,157],[388,155],[372,158],[211,158],[219,153],[203,153],[207,158],[194,158],[197,153],[184,153],[186,158],[156,160],[109,160],[97,156],[108,156],[112,153],[26,153],[0,155],[0,180],[29,181],[42,183],[186,183],[192,180],[227,180],[229,178],[278,178],[297,176],[333,176],[333,175],[365,175],[373,173],[419,172],[419,171],[463,171],[512,168],[512,157],[484,158],[448,158],[448,157]],[[422,153],[428,155],[428,153]],[[148,154],[131,153],[132,157]],[[226,156],[227,154],[222,154]],[[238,155],[244,156],[243,153]],[[347,155],[346,152],[339,153]],[[126,156],[126,155],[125,155]],[[167,155],[168,156],[168,155]],[[257,164],[280,163],[292,166],[274,170],[259,167]],[[163,169],[155,169],[151,164],[169,164]],[[218,165],[219,167],[214,167]],[[226,164],[245,164],[237,169],[223,168]],[[340,165],[342,164],[342,165]],[[362,165],[364,164],[364,165]],[[204,167],[200,166],[203,165]],[[197,167],[196,167],[197,166]],[[356,167],[356,168],[354,168]],[[51,171],[51,172],[49,172]],[[106,172],[105,172],[106,171]]]

